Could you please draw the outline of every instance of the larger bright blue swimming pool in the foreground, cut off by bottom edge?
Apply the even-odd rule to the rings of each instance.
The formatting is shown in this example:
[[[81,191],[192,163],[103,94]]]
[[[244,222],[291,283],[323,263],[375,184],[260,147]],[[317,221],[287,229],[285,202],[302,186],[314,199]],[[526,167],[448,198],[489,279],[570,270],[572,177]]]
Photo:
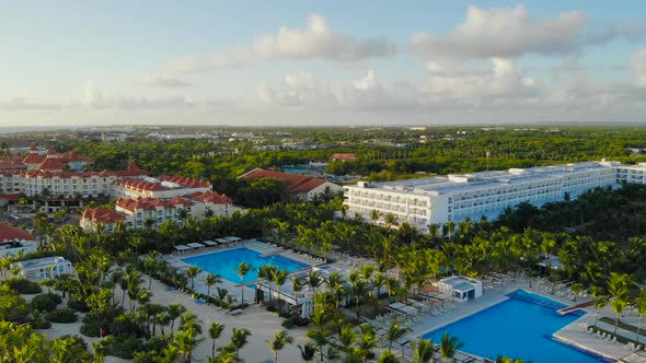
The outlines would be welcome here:
[[[464,352],[483,358],[496,358],[500,353],[534,363],[604,362],[552,338],[554,332],[585,313],[560,315],[556,311],[565,307],[564,304],[523,290],[507,296],[510,298],[427,332],[424,338],[437,343],[448,331],[464,342]]]

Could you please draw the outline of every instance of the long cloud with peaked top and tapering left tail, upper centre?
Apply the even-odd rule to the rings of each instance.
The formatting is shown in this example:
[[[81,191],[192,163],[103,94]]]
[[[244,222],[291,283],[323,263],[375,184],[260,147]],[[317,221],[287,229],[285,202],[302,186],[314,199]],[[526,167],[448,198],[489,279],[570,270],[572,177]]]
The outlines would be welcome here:
[[[385,37],[358,39],[334,32],[327,19],[313,14],[305,28],[280,27],[276,34],[264,34],[253,44],[224,54],[188,56],[174,61],[170,72],[204,72],[268,59],[324,59],[360,61],[391,57],[395,45]]]

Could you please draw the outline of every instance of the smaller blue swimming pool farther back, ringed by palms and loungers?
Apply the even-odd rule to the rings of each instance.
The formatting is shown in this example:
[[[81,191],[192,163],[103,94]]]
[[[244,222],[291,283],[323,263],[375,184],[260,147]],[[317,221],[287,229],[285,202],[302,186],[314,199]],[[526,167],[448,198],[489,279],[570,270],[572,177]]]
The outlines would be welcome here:
[[[222,279],[234,283],[240,283],[240,277],[233,272],[233,270],[238,269],[238,264],[240,262],[245,262],[254,268],[246,273],[244,282],[257,280],[257,269],[263,265],[274,265],[277,266],[278,269],[285,269],[289,272],[309,267],[305,264],[295,261],[281,255],[262,256],[263,255],[256,250],[242,247],[220,250],[208,255],[187,257],[182,260],[186,264],[199,267],[203,271],[219,274]]]

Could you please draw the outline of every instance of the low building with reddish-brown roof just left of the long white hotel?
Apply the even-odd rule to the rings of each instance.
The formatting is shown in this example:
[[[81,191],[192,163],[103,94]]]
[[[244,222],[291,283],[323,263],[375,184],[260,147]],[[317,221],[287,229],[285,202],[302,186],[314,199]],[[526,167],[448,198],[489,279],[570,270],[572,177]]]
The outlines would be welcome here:
[[[254,168],[253,171],[243,174],[240,177],[245,179],[269,178],[282,180],[287,183],[287,189],[298,199],[303,201],[311,201],[315,196],[325,191],[331,191],[332,194],[343,191],[343,187],[334,183],[330,183],[324,178],[267,171],[259,167]]]

